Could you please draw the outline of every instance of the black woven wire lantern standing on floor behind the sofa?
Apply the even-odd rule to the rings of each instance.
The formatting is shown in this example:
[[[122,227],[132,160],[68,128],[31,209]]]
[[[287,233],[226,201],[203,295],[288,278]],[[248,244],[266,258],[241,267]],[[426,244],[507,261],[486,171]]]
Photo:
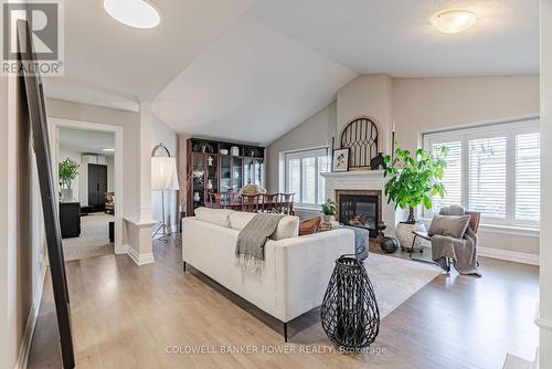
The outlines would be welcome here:
[[[364,264],[352,255],[336,261],[320,317],[328,338],[346,349],[370,346],[380,330],[380,310]]]

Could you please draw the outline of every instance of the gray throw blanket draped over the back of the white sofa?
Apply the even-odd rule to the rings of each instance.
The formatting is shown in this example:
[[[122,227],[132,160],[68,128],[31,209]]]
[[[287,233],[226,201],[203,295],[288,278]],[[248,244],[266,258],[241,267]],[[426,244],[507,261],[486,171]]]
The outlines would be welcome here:
[[[265,260],[265,243],[276,231],[284,214],[261,213],[245,224],[237,235],[237,264],[250,273],[259,274]]]

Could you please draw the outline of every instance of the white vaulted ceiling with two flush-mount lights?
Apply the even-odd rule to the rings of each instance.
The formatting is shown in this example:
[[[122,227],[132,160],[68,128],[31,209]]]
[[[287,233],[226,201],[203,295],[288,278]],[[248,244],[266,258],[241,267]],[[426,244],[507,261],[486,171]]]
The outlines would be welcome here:
[[[361,73],[461,76],[539,72],[538,0],[152,0],[162,22],[132,29],[102,0],[65,1],[65,76],[52,97],[136,109],[176,131],[268,144]],[[480,21],[445,35],[460,7]]]

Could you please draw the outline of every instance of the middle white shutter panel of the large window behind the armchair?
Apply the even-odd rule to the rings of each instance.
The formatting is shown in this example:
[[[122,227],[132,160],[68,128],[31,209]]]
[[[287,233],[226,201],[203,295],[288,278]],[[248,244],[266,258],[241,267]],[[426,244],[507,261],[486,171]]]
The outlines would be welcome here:
[[[468,141],[468,209],[506,219],[506,137]]]

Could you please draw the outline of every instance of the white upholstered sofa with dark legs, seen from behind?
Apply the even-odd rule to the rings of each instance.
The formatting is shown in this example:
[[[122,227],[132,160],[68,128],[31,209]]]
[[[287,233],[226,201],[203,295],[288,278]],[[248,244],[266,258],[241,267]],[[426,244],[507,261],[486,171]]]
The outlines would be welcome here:
[[[298,236],[299,219],[285,217],[265,244],[261,274],[243,271],[234,255],[253,213],[199,208],[182,220],[182,261],[284,323],[320,306],[336,260],[354,251],[354,234],[335,230]]]

